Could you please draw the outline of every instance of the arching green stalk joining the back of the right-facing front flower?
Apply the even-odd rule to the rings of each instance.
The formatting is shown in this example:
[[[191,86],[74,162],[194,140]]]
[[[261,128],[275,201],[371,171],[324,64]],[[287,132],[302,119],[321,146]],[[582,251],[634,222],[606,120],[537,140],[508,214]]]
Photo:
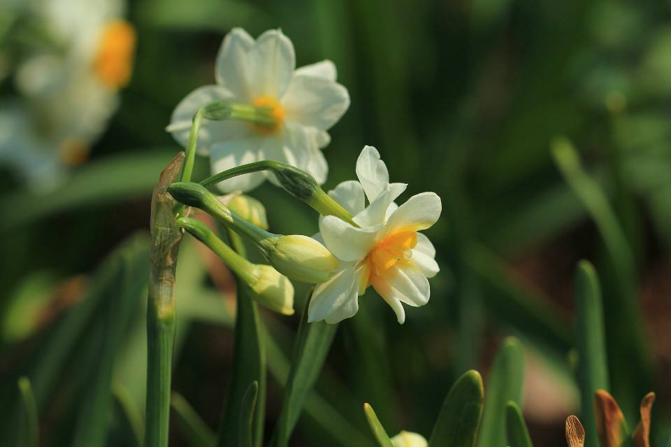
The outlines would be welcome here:
[[[296,197],[296,199],[304,201],[305,204],[308,204],[308,206],[319,214],[335,215],[335,217],[356,226],[352,222],[352,214],[345,208],[342,208],[337,201],[329,197],[329,194],[326,194],[322,190],[322,187],[319,186],[314,177],[290,164],[275,162],[274,160],[243,164],[242,166],[236,166],[205,178],[205,180],[201,181],[201,185],[208,186],[229,178],[258,171],[272,172],[275,178],[277,178],[277,183],[280,183],[284,191]]]

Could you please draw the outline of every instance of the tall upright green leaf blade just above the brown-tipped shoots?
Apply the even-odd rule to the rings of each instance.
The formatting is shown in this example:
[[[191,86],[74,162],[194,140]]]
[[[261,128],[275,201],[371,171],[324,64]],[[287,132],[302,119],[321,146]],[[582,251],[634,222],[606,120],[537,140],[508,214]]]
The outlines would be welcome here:
[[[609,385],[601,288],[592,264],[586,261],[578,264],[574,287],[581,418],[587,444],[596,446],[598,436],[594,416],[594,393],[599,389],[608,390]]]

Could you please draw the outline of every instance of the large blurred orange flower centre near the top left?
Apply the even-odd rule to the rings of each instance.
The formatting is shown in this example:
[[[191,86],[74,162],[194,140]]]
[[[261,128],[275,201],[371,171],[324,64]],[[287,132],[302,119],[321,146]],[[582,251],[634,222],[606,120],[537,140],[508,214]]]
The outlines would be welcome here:
[[[128,83],[133,68],[136,34],[125,20],[108,22],[98,43],[94,71],[101,83],[120,89]]]

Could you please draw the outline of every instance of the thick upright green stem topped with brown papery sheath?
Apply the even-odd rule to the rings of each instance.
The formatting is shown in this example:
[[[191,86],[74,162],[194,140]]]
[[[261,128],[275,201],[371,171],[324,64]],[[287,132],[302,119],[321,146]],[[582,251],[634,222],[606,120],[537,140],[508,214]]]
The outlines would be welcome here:
[[[166,190],[177,178],[184,158],[184,152],[180,152],[161,172],[152,195],[152,265],[147,301],[146,447],[168,446],[175,341],[175,270],[182,230],[175,219],[177,204]]]

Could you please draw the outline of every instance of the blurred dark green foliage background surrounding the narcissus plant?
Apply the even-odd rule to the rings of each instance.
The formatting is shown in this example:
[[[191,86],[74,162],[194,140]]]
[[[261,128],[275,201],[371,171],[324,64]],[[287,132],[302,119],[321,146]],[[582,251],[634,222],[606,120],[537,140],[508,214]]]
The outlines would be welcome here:
[[[178,150],[164,127],[185,94],[212,83],[219,43],[240,26],[254,36],[281,27],[298,66],[328,58],[338,67],[352,106],[324,151],[325,189],[354,178],[356,156],[369,144],[392,181],[409,183],[407,197],[433,190],[445,208],[428,232],[442,267],[430,303],[398,326],[375,294],[361,297],[359,315],[339,326],[315,392],[300,397],[305,411],[291,445],[375,445],[363,402],[389,434],[403,428],[428,437],[447,391],[472,368],[484,371],[486,402],[500,406],[491,429],[497,442],[505,441],[505,406],[514,399],[535,445],[565,445],[563,420],[581,413],[579,405],[544,392],[575,390],[577,381],[556,377],[573,376],[573,347],[584,354],[595,346],[575,341],[594,336],[581,323],[593,318],[584,301],[593,295],[579,290],[583,301],[574,305],[570,293],[582,258],[600,276],[609,391],[628,420],[638,419],[640,398],[656,391],[652,444],[668,444],[671,353],[663,336],[651,336],[668,334],[671,321],[668,1],[138,0],[128,17],[138,32],[134,75],[92,159],[48,193],[24,189],[8,169],[0,178],[0,400],[11,403],[0,410],[2,439],[27,430],[15,424],[27,396],[16,383],[27,376],[41,445],[137,442],[147,241],[138,236],[114,248],[146,232],[152,187]],[[11,62],[10,52],[2,55]],[[13,90],[3,78],[0,92]],[[564,149],[555,150],[555,163],[556,141]],[[196,164],[194,178],[207,176],[207,162]],[[315,213],[272,185],[254,197],[274,232],[316,231]],[[80,274],[87,285],[73,280]],[[126,292],[110,293],[109,283]],[[216,432],[231,381],[233,317],[194,245],[182,248],[176,295],[173,388]],[[261,316],[268,420],[270,427],[289,420],[291,432],[296,415],[282,416],[281,396],[287,380],[287,390],[296,390],[298,372],[287,359],[298,315]],[[535,364],[561,371],[541,374],[528,364],[521,400],[517,388],[487,394],[496,383],[493,346],[507,334],[530,347]],[[115,400],[112,389],[122,390]],[[484,426],[487,411],[485,404]],[[197,445],[173,425],[175,446]]]

